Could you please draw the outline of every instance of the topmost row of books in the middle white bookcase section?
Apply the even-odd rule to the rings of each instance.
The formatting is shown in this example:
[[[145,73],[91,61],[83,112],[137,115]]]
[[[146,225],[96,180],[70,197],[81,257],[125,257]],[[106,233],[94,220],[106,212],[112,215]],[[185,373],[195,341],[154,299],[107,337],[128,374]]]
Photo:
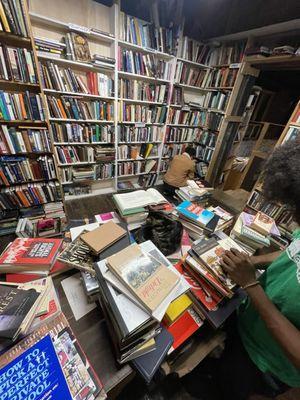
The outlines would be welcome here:
[[[163,53],[175,54],[177,48],[178,30],[157,27],[152,22],[120,12],[119,21],[120,40],[136,44]]]

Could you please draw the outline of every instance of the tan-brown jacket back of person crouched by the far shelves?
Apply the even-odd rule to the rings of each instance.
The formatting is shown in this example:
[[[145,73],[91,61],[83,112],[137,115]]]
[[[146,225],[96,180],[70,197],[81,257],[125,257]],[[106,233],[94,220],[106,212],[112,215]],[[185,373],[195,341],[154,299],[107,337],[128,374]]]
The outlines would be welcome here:
[[[164,176],[164,181],[174,187],[186,186],[186,181],[194,177],[195,162],[187,153],[175,156]]]

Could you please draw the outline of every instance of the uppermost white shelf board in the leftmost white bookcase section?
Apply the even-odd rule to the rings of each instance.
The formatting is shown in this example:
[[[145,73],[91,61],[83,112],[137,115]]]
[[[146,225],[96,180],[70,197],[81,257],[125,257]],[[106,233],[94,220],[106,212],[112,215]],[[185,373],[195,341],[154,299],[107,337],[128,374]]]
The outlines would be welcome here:
[[[75,31],[74,27],[72,29],[69,27],[69,23],[60,21],[55,18],[49,18],[49,17],[46,17],[41,14],[37,14],[34,12],[30,12],[29,16],[30,16],[30,19],[32,22],[36,22],[41,25],[47,25],[47,26],[50,26],[50,27],[53,27],[56,29],[59,28],[60,30],[65,31],[65,32],[69,32],[71,30]],[[86,32],[84,32],[84,34],[92,40],[99,41],[99,42],[107,42],[109,44],[113,43],[115,41],[114,37],[107,36],[105,34],[101,34],[101,33],[97,33],[97,32],[93,32],[89,28],[86,28],[86,27],[83,27],[83,28],[86,29]]]

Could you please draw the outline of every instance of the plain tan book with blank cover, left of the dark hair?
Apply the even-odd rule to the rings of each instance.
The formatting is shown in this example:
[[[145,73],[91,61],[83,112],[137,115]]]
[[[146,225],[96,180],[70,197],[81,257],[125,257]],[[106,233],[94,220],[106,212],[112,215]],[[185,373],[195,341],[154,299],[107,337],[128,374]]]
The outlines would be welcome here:
[[[109,221],[107,224],[81,235],[81,240],[89,246],[94,254],[98,255],[125,235],[125,229],[113,221]]]

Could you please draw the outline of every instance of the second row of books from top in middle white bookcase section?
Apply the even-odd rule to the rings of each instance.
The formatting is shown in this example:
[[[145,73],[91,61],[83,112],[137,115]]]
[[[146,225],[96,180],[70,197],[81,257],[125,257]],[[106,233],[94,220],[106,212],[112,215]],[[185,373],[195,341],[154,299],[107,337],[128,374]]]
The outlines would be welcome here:
[[[171,63],[159,60],[153,54],[144,54],[119,47],[119,71],[170,80]]]

